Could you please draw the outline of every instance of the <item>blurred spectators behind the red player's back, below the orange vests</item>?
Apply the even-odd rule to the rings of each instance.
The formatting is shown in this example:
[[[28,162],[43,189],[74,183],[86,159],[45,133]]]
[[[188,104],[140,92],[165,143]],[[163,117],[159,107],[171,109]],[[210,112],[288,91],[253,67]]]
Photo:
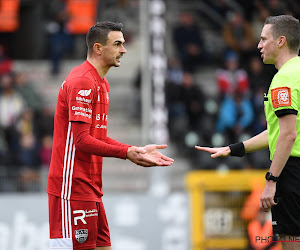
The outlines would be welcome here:
[[[50,163],[53,111],[0,45],[0,191],[39,191]]]

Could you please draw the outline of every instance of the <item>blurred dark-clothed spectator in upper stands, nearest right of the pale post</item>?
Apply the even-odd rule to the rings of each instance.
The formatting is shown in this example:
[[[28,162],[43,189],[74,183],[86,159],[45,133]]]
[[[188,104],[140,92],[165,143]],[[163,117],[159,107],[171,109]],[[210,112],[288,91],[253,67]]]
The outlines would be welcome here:
[[[207,55],[200,28],[191,13],[180,13],[173,38],[184,70],[194,72],[207,59]]]

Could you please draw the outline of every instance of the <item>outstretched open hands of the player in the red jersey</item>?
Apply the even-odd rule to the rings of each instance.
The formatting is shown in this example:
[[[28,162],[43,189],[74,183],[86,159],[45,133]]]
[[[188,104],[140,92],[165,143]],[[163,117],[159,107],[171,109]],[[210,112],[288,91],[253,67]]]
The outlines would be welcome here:
[[[150,144],[145,147],[130,147],[127,151],[127,158],[137,165],[143,167],[170,166],[174,160],[158,151],[167,145]]]

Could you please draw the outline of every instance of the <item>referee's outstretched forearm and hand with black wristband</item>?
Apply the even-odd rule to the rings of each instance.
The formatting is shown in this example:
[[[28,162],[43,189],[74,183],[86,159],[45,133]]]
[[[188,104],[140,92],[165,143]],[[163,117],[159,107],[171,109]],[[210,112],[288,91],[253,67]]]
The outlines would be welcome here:
[[[251,153],[261,149],[265,149],[269,146],[268,143],[268,132],[267,130],[261,132],[260,134],[246,140],[244,142],[239,142],[231,144],[225,147],[210,148],[195,146],[196,149],[211,154],[212,158],[226,157],[226,156],[243,156],[245,153]]]

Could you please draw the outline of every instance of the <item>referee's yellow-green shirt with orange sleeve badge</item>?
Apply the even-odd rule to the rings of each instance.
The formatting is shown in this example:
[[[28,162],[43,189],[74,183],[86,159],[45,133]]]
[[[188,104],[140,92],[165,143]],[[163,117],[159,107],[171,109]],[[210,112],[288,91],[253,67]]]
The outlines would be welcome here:
[[[300,157],[300,57],[287,61],[273,77],[265,97],[270,159],[273,159],[279,135],[278,117],[297,115],[297,139],[291,156]]]

